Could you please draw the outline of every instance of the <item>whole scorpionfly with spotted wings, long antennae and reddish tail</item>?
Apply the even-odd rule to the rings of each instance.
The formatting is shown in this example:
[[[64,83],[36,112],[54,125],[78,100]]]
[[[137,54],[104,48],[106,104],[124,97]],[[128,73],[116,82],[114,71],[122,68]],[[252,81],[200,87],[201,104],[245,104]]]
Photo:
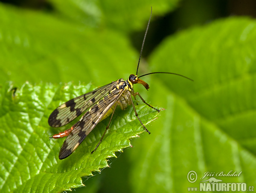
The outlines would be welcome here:
[[[151,9],[151,14],[152,14],[152,9]],[[150,19],[151,19],[151,16],[150,16]],[[150,19],[148,21],[148,26],[150,23]],[[143,44],[140,51],[140,57],[142,54],[145,37],[148,31],[148,26],[143,39]],[[111,119],[112,119],[117,105],[119,105],[122,110],[127,108],[128,105],[132,105],[134,108],[135,115],[137,116],[141,125],[143,125],[143,123],[141,122],[136,112],[134,103],[132,101],[132,96],[135,98],[135,96],[138,95],[146,105],[155,109],[158,112],[160,111],[152,107],[151,105],[149,105],[147,102],[145,102],[145,100],[140,96],[139,93],[137,92],[134,93],[134,89],[133,89],[134,84],[140,83],[147,90],[149,88],[146,82],[139,79],[140,77],[146,76],[148,74],[144,74],[140,77],[137,77],[139,64],[140,64],[140,58],[137,66],[136,75],[131,74],[128,80],[118,79],[114,82],[111,82],[108,85],[97,88],[96,90],[91,91],[87,94],[83,94],[79,97],[71,99],[70,101],[60,105],[58,108],[56,108],[52,112],[52,114],[49,116],[49,119],[48,119],[49,125],[52,127],[61,127],[73,121],[73,119],[75,119],[76,117],[81,115],[84,111],[86,111],[85,114],[81,117],[81,119],[75,125],[73,125],[70,129],[67,129],[64,132],[55,134],[52,137],[50,137],[50,138],[58,139],[60,137],[67,136],[67,139],[64,141],[63,145],[61,146],[59,159],[64,159],[67,156],[70,156],[70,154],[76,150],[76,148],[80,145],[80,143],[84,140],[84,138],[93,130],[93,128],[95,128],[95,126],[100,121],[105,119],[107,116],[110,116],[111,114],[112,114],[111,115]],[[154,74],[154,73],[175,74],[175,73],[169,73],[169,72],[153,72],[149,74]],[[176,74],[176,75],[184,77],[180,74]],[[91,153],[93,153],[98,148],[106,131],[109,128],[111,119],[98,145]],[[150,132],[145,127],[145,125],[143,125],[143,127],[145,128],[145,131],[147,131],[150,134]]]

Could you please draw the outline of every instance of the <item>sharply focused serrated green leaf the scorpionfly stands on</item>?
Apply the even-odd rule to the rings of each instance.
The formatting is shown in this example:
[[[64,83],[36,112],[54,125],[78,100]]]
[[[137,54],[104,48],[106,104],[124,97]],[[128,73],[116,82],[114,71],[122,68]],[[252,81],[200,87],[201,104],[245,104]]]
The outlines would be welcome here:
[[[68,158],[58,159],[64,139],[49,140],[49,136],[72,126],[50,128],[49,114],[63,102],[92,90],[91,85],[74,86],[24,84],[14,92],[11,84],[0,90],[0,190],[1,192],[60,192],[83,186],[81,177],[108,167],[116,151],[131,146],[129,139],[144,128],[133,108],[116,110],[108,131],[93,154],[110,120],[100,122]],[[146,105],[136,106],[141,121],[147,125],[158,114]],[[77,119],[78,120],[78,119]],[[76,120],[76,121],[77,121]]]

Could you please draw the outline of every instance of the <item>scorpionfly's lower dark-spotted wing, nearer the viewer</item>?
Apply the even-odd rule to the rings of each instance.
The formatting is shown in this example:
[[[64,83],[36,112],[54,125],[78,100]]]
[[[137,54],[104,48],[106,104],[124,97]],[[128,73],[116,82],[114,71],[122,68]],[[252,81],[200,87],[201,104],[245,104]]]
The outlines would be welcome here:
[[[64,159],[67,156],[70,156],[70,154],[76,150],[84,138],[93,130],[93,128],[101,121],[102,117],[119,99],[122,92],[122,89],[113,90],[113,92],[105,96],[98,104],[94,105],[82,116],[61,146],[59,159]]]

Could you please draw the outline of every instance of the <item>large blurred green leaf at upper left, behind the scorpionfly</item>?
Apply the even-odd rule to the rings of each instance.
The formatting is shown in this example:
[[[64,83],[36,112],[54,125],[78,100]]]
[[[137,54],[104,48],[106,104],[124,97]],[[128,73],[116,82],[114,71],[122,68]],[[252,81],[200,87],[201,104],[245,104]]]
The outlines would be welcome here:
[[[13,81],[21,86],[26,81],[93,81],[104,85],[121,78],[113,74],[124,71],[123,66],[128,71],[122,74],[125,77],[136,68],[131,64],[137,63],[139,54],[128,38],[116,31],[102,32],[2,4],[0,23],[0,82]]]

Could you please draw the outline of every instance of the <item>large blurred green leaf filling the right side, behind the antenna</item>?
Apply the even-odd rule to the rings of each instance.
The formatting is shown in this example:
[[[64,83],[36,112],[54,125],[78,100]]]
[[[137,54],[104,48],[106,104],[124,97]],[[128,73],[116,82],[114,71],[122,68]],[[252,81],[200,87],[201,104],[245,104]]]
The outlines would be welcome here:
[[[204,173],[231,170],[242,173],[214,177],[256,184],[255,51],[255,20],[234,17],[182,31],[151,54],[151,71],[195,82],[169,74],[146,80],[154,93],[147,101],[166,111],[148,126],[150,138],[135,141],[138,149],[127,155],[131,192],[187,192],[199,188]],[[194,184],[190,170],[198,174]]]

